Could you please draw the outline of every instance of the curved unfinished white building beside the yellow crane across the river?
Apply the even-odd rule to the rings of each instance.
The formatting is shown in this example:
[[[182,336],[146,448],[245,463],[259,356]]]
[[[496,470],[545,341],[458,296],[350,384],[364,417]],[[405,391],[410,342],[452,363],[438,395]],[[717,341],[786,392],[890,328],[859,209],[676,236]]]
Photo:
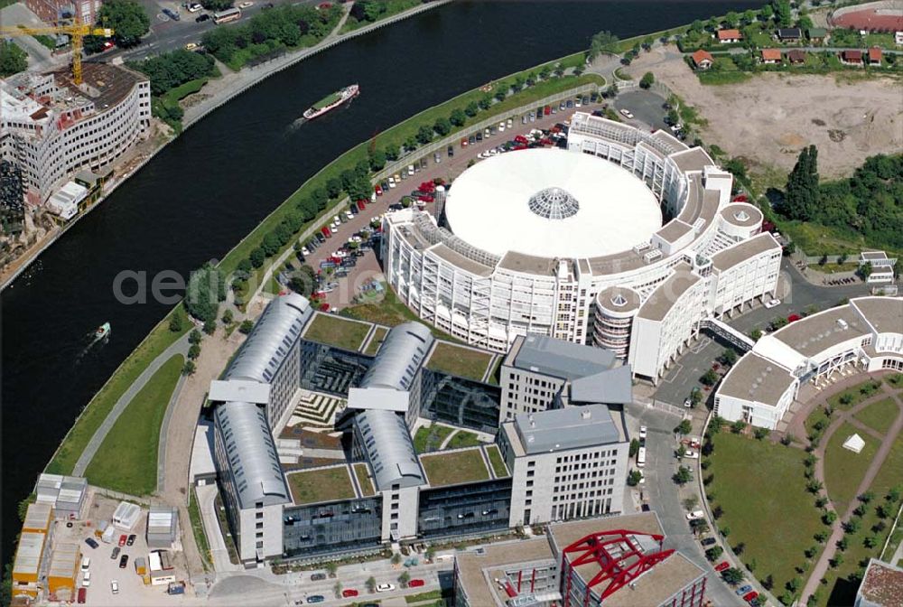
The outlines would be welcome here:
[[[81,88],[68,71],[0,81],[0,153],[17,163],[27,198],[42,204],[79,170],[98,171],[146,136],[150,80],[106,63],[84,66]]]

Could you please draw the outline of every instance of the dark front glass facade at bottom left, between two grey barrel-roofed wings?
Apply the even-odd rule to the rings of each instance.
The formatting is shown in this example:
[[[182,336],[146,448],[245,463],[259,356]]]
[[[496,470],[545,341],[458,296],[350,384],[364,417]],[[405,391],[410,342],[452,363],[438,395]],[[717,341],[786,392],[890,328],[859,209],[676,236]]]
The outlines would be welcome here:
[[[284,556],[315,556],[380,545],[382,499],[333,501],[283,511]]]

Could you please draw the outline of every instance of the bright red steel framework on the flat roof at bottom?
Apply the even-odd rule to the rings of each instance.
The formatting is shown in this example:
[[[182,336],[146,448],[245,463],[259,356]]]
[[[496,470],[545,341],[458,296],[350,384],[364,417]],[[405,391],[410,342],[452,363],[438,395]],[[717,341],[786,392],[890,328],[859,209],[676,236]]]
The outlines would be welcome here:
[[[644,552],[636,540],[628,536],[652,537],[658,542],[659,549],[656,552]],[[563,607],[590,607],[591,593],[595,586],[608,583],[599,594],[599,602],[602,604],[606,597],[618,592],[618,590],[631,581],[645,574],[649,569],[664,561],[674,554],[674,550],[662,550],[662,542],[665,536],[657,534],[630,531],[628,529],[613,529],[592,533],[567,546],[562,551],[562,583],[563,583]],[[570,557],[569,557],[570,556]],[[571,585],[573,571],[581,565],[599,565],[599,573],[586,580],[586,591],[582,603],[573,602]]]

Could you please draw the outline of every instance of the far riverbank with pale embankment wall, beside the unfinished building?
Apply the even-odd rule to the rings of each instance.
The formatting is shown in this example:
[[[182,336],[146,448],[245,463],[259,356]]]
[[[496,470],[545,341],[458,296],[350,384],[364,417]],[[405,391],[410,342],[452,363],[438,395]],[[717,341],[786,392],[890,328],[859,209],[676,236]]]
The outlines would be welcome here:
[[[454,0],[435,0],[434,2],[431,2],[429,4],[418,5],[414,8],[406,10],[405,12],[387,16],[385,19],[382,19],[375,23],[369,23],[368,25],[365,25],[348,33],[339,33],[342,25],[345,22],[345,20],[342,19],[340,23],[336,25],[332,33],[330,33],[330,35],[324,38],[321,42],[317,43],[315,46],[300,51],[287,53],[273,61],[267,61],[260,65],[245,68],[243,70],[228,71],[228,69],[225,69],[222,64],[218,64],[220,70],[224,71],[222,77],[210,81],[205,86],[205,89],[201,89],[200,94],[207,95],[207,97],[200,101],[200,103],[185,109],[185,115],[182,118],[182,130],[184,131],[191,126],[194,126],[202,118],[208,116],[209,113],[213,110],[227,104],[233,98],[236,98],[238,95],[246,92],[247,89],[251,89],[263,80],[274,75],[275,73],[292,67],[295,63],[304,61],[305,59],[317,55],[322,51],[331,49],[332,47],[342,42],[348,42],[349,40],[357,36],[373,32],[382,27],[386,27],[386,25],[397,23],[409,17],[413,17],[414,15],[424,13],[425,11],[431,10],[438,6],[447,5],[453,1]],[[210,84],[214,82],[216,83],[216,87],[211,88]],[[154,125],[155,126],[152,127],[152,135],[149,139],[149,141],[151,141],[153,145],[153,148],[145,153],[133,151],[131,153],[131,157],[133,158],[133,161],[137,161],[135,165],[130,165],[133,161],[125,163],[126,173],[124,173],[121,178],[116,179],[114,182],[112,182],[112,184],[107,189],[105,189],[103,195],[98,199],[97,202],[88,207],[88,209],[83,213],[79,214],[78,217],[72,219],[62,229],[55,229],[48,233],[44,238],[34,242],[22,257],[15,259],[14,262],[12,262],[7,267],[7,269],[5,269],[5,271],[0,272],[0,291],[3,291],[9,285],[12,285],[15,279],[18,278],[19,275],[22,275],[23,272],[25,272],[38,257],[41,257],[42,253],[45,250],[51,247],[53,243],[55,243],[59,238],[66,234],[66,232],[69,231],[73,226],[75,226],[80,219],[87,217],[88,213],[90,213],[92,210],[97,209],[104,201],[107,200],[110,194],[116,191],[116,189],[124,182],[126,182],[129,177],[140,171],[144,167],[144,165],[153,160],[154,156],[156,154],[159,154],[166,145],[169,145],[177,138],[171,136],[167,139],[154,142],[153,133],[159,130],[159,126],[163,126],[163,122],[158,121],[154,118]]]

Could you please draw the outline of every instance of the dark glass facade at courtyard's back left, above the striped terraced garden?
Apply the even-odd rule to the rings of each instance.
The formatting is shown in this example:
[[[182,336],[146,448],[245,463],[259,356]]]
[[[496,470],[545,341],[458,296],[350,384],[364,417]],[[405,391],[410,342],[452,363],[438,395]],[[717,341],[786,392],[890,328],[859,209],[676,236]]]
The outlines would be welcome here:
[[[302,340],[300,386],[345,398],[348,388],[360,383],[372,362],[372,356]]]

